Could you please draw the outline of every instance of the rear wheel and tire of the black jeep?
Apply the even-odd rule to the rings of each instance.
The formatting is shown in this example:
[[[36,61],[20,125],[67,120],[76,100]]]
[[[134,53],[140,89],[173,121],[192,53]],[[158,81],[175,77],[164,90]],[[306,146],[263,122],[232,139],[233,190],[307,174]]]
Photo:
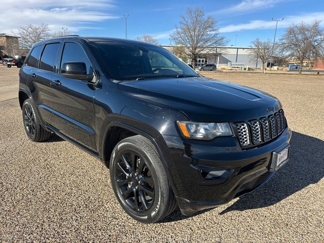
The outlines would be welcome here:
[[[41,126],[30,99],[26,99],[22,105],[22,118],[26,134],[31,141],[42,142],[51,137],[52,133]]]

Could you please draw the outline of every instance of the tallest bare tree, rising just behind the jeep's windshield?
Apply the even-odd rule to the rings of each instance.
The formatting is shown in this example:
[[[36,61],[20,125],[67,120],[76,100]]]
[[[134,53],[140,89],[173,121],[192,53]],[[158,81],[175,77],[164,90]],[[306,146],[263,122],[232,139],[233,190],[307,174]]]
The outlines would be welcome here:
[[[186,16],[181,16],[180,27],[176,26],[171,34],[173,41],[186,48],[193,61],[193,67],[200,54],[210,47],[223,46],[227,43],[215,27],[217,21],[212,16],[205,17],[202,9],[187,9]]]

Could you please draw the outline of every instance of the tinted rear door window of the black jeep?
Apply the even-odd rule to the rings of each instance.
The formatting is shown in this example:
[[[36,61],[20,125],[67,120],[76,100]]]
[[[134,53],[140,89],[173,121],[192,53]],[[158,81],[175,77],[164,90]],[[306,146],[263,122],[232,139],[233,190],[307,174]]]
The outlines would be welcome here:
[[[41,57],[41,64],[39,64],[39,69],[53,72],[59,48],[60,43],[48,44],[45,46]]]

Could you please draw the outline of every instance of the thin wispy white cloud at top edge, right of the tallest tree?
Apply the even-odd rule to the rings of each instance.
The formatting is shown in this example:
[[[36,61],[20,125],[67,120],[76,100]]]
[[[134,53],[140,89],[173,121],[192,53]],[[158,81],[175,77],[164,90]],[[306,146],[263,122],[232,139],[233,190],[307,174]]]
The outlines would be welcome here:
[[[239,4],[232,5],[228,8],[219,9],[217,11],[210,12],[209,14],[211,14],[211,15],[225,15],[225,14],[240,15],[240,14],[245,14],[248,12],[254,12],[257,10],[273,8],[276,4],[278,4],[279,2],[282,2],[282,1],[284,1],[284,0],[271,0],[271,1],[243,0]]]

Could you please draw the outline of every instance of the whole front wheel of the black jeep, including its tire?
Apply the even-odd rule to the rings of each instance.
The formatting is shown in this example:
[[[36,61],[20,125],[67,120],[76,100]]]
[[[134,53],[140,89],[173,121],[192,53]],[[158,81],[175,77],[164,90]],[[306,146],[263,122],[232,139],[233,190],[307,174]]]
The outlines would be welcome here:
[[[119,204],[135,220],[154,223],[178,206],[155,147],[143,136],[121,140],[112,151],[109,168]]]

